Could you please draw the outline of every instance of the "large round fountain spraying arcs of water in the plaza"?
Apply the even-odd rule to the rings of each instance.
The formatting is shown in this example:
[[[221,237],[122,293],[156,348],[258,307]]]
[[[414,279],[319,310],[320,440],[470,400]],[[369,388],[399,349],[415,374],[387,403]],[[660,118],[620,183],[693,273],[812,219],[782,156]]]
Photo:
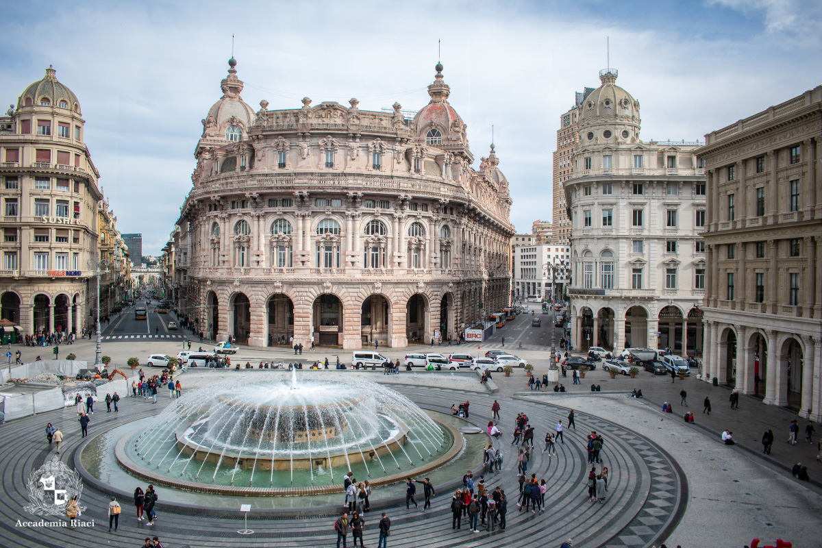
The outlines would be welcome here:
[[[334,374],[298,382],[292,371],[194,389],[119,440],[115,456],[132,474],[183,489],[305,495],[341,490],[346,472],[372,486],[401,481],[461,446],[459,431],[395,390]]]

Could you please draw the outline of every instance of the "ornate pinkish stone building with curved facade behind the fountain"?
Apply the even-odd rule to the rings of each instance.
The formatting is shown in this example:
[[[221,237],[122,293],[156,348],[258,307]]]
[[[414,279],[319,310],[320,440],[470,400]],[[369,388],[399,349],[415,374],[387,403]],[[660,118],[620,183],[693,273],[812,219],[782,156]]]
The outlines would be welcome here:
[[[255,112],[237,62],[202,121],[169,286],[204,334],[251,346],[405,347],[509,303],[506,177],[471,167],[442,66],[407,117],[334,101]]]

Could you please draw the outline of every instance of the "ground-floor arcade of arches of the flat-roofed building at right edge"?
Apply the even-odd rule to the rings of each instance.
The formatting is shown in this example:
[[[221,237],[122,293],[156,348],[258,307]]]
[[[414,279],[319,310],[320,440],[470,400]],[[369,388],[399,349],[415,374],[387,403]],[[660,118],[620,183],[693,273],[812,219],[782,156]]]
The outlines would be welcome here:
[[[796,409],[802,417],[822,420],[819,370],[822,338],[817,334],[787,333],[705,322],[706,348],[703,380],[716,378],[741,394],[752,394],[764,403]]]

